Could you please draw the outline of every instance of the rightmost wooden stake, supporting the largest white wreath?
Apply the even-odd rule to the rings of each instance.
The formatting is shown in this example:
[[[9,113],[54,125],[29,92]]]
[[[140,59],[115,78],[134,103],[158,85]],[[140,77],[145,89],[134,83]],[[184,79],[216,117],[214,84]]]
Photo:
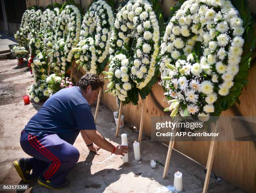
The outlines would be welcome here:
[[[217,125],[217,122],[216,122],[214,133],[217,132],[217,127],[218,127],[218,125]],[[207,165],[206,165],[207,172],[206,172],[206,176],[205,176],[205,184],[204,184],[204,188],[203,188],[203,193],[207,193],[209,182],[210,182],[210,175],[211,175],[211,171],[212,171],[212,163],[213,163],[215,147],[216,147],[215,138],[216,137],[212,137],[211,144],[210,144],[210,150],[209,150]]]

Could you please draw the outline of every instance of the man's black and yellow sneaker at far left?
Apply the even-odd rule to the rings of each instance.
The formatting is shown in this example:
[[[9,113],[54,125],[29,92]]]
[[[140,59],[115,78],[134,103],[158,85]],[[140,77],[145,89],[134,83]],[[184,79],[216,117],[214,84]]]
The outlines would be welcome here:
[[[24,182],[30,182],[33,178],[30,175],[30,171],[32,170],[32,165],[29,163],[28,158],[21,158],[20,160],[16,160],[13,162],[13,166],[18,172],[18,175]]]

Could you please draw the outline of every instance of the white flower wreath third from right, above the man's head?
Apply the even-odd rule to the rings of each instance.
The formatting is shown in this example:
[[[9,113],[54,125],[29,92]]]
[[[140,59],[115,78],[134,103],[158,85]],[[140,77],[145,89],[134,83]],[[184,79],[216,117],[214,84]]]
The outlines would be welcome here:
[[[80,41],[74,51],[76,51],[75,58],[79,58],[76,63],[80,63],[87,73],[100,74],[105,67],[100,63],[106,59],[109,53],[110,29],[113,27],[113,21],[113,10],[103,0],[92,3],[84,15]]]

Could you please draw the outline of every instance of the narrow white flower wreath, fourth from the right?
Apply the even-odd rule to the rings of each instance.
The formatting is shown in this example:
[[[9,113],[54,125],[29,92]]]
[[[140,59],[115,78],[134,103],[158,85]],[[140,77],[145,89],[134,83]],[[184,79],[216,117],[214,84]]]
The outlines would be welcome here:
[[[59,14],[55,31],[51,64],[57,74],[65,74],[67,62],[72,61],[74,41],[79,41],[81,14],[75,5],[67,5]]]

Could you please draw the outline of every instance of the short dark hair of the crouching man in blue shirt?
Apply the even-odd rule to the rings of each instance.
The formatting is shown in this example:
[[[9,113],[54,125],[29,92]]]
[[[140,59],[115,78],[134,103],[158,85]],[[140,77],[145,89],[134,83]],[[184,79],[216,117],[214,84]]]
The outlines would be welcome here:
[[[99,87],[102,88],[104,86],[104,80],[97,74],[85,74],[77,82],[77,86],[83,90],[86,90],[88,85],[92,86],[92,90],[96,90]]]

